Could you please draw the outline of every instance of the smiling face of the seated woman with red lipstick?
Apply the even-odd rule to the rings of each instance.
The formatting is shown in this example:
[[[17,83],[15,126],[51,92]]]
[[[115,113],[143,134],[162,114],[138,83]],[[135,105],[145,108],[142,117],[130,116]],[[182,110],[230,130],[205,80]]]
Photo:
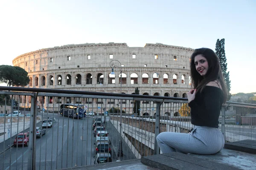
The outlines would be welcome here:
[[[208,62],[202,54],[198,54],[197,56],[195,56],[195,69],[201,76],[207,74]]]

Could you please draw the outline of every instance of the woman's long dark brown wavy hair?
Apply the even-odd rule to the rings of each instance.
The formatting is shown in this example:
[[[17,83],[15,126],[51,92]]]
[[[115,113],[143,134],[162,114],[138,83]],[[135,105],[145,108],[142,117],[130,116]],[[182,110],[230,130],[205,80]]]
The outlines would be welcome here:
[[[201,54],[207,59],[208,71],[205,76],[201,76],[195,68],[195,56]],[[220,61],[218,56],[209,48],[195,49],[190,60],[190,74],[192,80],[192,88],[196,88],[197,92],[201,92],[207,83],[218,80],[221,83],[224,94],[224,103],[227,101],[227,86],[221,71]]]

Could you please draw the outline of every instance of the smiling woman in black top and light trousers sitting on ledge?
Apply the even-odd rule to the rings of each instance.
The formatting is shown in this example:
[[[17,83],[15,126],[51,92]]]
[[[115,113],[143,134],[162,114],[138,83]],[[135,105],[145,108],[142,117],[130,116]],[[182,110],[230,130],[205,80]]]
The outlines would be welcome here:
[[[157,143],[161,153],[214,154],[224,147],[218,117],[227,100],[227,87],[215,52],[209,48],[195,49],[190,71],[192,89],[188,92],[188,101],[191,123],[195,127],[191,133],[160,133]]]

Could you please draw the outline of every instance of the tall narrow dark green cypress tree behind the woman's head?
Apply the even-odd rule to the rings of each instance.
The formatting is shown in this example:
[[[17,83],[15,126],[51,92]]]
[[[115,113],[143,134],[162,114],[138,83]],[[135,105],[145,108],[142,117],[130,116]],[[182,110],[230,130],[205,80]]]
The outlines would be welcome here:
[[[230,94],[230,79],[229,79],[229,71],[227,72],[227,59],[226,59],[226,54],[225,54],[225,39],[217,40],[216,46],[215,46],[215,51],[217,56],[220,59],[220,64],[221,64],[221,70],[223,73],[224,80],[227,85],[227,100],[230,100],[231,94]]]

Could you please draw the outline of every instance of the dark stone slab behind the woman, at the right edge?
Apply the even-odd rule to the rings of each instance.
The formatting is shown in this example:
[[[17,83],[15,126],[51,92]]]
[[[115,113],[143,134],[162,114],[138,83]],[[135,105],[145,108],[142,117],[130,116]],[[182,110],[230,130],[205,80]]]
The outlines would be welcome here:
[[[237,142],[229,142],[229,143],[225,143],[224,148],[256,154],[256,141],[243,140],[243,141],[237,141]]]

